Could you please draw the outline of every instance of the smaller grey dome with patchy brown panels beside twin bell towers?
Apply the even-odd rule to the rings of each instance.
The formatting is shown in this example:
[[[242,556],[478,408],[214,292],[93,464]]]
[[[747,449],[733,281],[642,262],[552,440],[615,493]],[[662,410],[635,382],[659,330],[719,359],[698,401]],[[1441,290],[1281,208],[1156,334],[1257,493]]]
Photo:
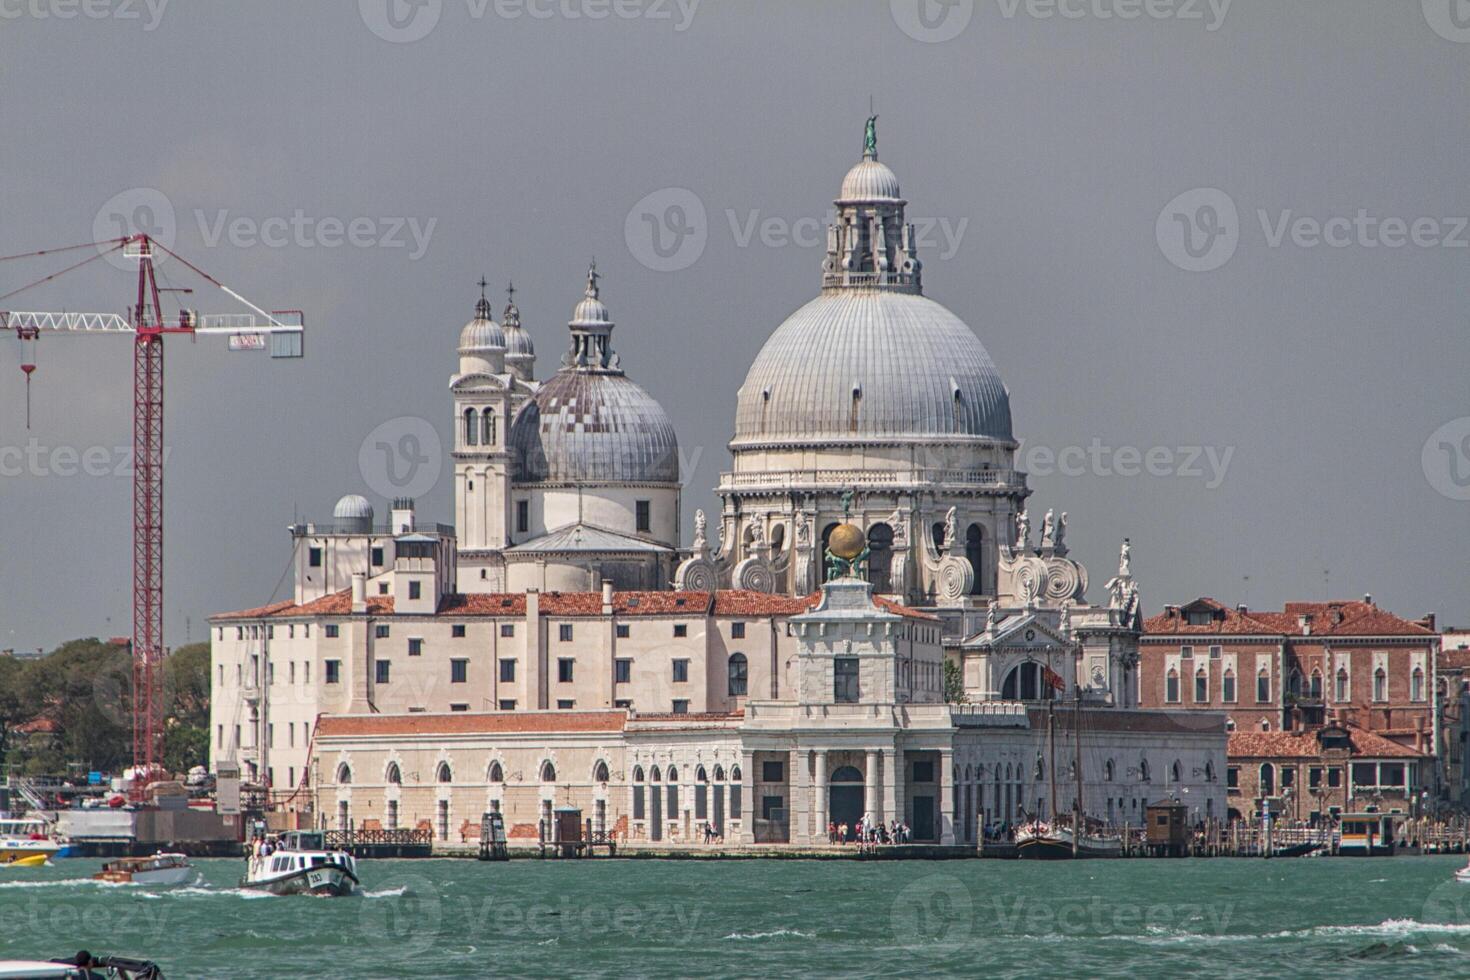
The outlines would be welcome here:
[[[679,482],[673,422],[622,373],[559,370],[516,414],[510,453],[520,482]]]

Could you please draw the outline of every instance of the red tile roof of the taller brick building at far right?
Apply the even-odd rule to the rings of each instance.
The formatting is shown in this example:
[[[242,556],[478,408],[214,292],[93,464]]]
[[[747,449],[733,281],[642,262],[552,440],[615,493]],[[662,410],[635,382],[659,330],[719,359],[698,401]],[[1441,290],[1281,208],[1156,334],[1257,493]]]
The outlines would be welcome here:
[[[1185,621],[1186,610],[1210,610],[1214,617],[1208,624],[1191,626]],[[1311,632],[1302,626],[1301,617],[1310,616]],[[1144,633],[1150,636],[1433,636],[1435,632],[1423,623],[1414,623],[1382,610],[1372,602],[1348,599],[1341,602],[1288,602],[1280,611],[1235,610],[1216,599],[1202,597],[1179,607],[1151,616],[1144,621]]]

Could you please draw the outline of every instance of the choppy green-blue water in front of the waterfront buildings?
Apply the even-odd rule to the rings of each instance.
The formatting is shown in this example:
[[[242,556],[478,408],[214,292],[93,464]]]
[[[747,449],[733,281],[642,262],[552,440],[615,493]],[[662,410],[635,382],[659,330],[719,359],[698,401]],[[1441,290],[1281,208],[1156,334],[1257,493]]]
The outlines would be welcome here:
[[[360,898],[0,870],[0,959],[85,948],[179,977],[1470,977],[1463,858],[363,861]]]

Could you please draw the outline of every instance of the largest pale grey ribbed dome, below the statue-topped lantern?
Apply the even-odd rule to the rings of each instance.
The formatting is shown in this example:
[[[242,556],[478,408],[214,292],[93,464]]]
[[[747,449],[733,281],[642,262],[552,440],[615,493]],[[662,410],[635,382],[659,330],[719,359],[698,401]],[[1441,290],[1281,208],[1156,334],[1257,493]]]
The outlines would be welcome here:
[[[823,291],[736,397],[736,447],[954,435],[1010,441],[1010,395],[975,332],[916,292]]]

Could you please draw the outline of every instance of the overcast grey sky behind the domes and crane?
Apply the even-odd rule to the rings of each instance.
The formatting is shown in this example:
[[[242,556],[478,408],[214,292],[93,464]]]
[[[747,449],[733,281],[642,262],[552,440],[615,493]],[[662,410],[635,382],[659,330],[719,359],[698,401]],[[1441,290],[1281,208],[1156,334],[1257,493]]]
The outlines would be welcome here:
[[[171,644],[287,588],[294,516],[384,505],[376,426],[448,438],[482,273],[497,310],[514,279],[545,376],[597,257],[686,519],[714,508],[869,96],[926,292],[1000,366],[1032,510],[1069,511],[1094,582],[1127,535],[1150,611],[1372,592],[1470,620],[1470,10],[391,1],[0,0],[0,253],[131,216],[307,313],[301,361],[168,347]],[[60,264],[3,263],[0,291]],[[93,266],[0,306],[122,310],[131,279]],[[101,463],[128,344],[43,339],[29,432],[19,356],[0,338],[0,645],[129,633],[131,482]],[[93,475],[56,453],[93,447]],[[453,519],[447,478],[420,510]]]

